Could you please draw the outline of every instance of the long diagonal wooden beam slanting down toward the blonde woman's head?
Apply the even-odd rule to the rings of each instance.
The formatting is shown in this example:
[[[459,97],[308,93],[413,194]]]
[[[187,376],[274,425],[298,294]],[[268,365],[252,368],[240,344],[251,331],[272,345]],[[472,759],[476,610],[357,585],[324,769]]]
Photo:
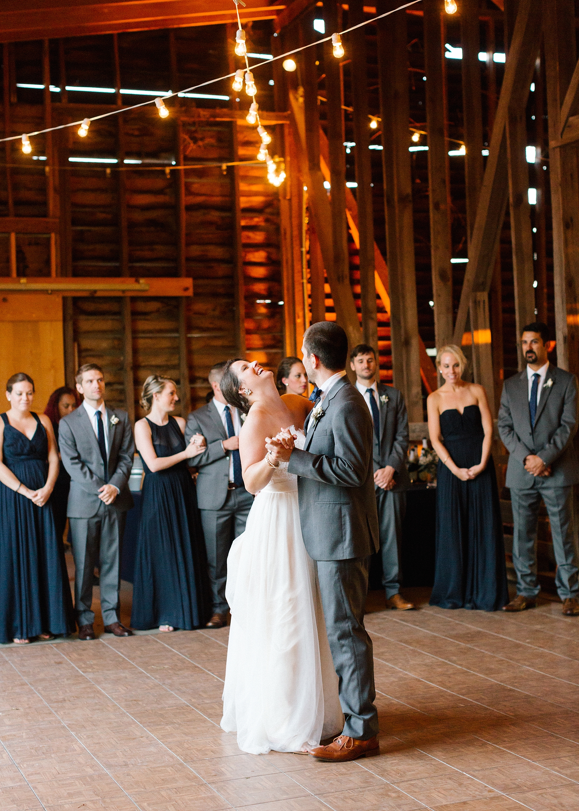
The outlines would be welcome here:
[[[499,247],[500,228],[508,200],[507,139],[505,127],[511,99],[518,97],[526,103],[533,76],[534,62],[541,36],[541,5],[536,0],[521,0],[517,24],[509,49],[499,105],[492,130],[487,168],[473,235],[470,241],[469,264],[466,266],[461,301],[454,328],[454,342],[461,345],[465,331],[470,298],[474,292],[488,291]]]

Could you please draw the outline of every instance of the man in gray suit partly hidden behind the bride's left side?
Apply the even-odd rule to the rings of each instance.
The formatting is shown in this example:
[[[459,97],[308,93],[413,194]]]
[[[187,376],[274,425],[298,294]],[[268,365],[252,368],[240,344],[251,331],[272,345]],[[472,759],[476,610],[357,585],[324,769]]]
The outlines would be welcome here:
[[[209,371],[213,399],[189,414],[185,441],[203,434],[207,450],[191,460],[197,476],[197,504],[207,547],[209,579],[213,595],[213,616],[208,628],[222,628],[227,622],[229,606],[225,600],[227,556],[234,539],[245,530],[253,496],[243,485],[239,458],[241,415],[228,405],[219,384],[225,363]]]

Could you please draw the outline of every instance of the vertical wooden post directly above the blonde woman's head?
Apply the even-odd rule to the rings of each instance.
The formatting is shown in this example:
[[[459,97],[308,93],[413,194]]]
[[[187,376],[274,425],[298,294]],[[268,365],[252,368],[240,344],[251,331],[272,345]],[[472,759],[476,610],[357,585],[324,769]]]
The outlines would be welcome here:
[[[440,2],[424,0],[424,64],[427,71],[428,198],[431,225],[432,298],[436,346],[452,339],[452,243],[446,141],[444,27]]]

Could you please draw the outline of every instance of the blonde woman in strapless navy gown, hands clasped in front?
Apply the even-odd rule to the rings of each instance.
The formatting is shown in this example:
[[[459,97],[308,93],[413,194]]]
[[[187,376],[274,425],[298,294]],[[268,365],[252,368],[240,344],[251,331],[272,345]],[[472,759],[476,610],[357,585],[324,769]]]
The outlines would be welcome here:
[[[461,380],[466,360],[457,346],[444,346],[436,365],[445,382],[427,400],[440,460],[430,604],[498,611],[508,603],[508,587],[487,395]]]

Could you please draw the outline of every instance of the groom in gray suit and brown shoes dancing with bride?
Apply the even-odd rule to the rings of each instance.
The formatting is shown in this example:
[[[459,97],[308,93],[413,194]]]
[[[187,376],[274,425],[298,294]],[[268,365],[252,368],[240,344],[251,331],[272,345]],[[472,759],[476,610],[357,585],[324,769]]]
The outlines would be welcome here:
[[[348,339],[330,321],[313,324],[302,345],[303,365],[315,384],[303,450],[267,444],[273,461],[289,461],[298,475],[303,541],[315,561],[330,650],[345,714],[341,736],[311,749],[322,761],[350,761],[378,752],[374,660],[364,628],[368,556],[379,530],[372,463],[373,427],[364,398],[345,377]]]

